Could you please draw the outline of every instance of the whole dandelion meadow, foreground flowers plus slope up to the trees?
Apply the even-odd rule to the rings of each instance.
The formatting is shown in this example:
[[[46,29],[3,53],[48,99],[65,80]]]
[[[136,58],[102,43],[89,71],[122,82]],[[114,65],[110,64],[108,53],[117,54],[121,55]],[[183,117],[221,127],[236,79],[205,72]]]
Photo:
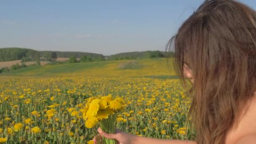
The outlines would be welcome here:
[[[117,128],[160,139],[194,139],[186,132],[190,99],[172,60],[102,61],[45,65],[0,76],[0,143],[91,143],[96,128],[85,128],[87,98],[120,96],[125,110]]]

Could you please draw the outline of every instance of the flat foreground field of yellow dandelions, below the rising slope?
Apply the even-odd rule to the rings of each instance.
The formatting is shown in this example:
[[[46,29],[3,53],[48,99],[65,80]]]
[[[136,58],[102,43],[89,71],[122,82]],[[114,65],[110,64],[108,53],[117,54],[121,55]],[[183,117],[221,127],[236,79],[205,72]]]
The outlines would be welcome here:
[[[140,136],[185,139],[189,98],[179,80],[152,78],[15,78],[0,84],[0,142],[84,144],[82,109],[93,96],[119,96],[117,128]],[[188,131],[192,139],[193,131]],[[91,141],[90,141],[91,142]]]

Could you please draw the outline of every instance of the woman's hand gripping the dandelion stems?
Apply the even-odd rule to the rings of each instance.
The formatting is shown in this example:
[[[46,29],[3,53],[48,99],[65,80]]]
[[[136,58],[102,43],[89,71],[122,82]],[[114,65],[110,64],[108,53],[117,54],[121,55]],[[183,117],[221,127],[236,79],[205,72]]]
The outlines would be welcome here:
[[[132,135],[130,133],[125,133],[119,129],[115,130],[116,133],[106,133],[101,130],[101,128],[98,128],[98,136],[93,138],[94,144],[99,144],[97,143],[98,141],[100,144],[102,143],[102,136],[104,136],[107,139],[115,139],[117,140],[117,144],[133,144],[133,141],[136,138],[136,135]]]

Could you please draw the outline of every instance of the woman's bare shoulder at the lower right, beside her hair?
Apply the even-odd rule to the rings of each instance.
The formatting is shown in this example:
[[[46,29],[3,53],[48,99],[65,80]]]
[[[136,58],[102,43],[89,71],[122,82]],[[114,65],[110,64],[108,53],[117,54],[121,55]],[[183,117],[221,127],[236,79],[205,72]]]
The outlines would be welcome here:
[[[256,138],[256,93],[250,101],[246,113],[239,119],[238,125],[231,128],[227,133],[226,144],[235,144],[241,139],[248,139],[248,136],[250,139],[252,136]]]

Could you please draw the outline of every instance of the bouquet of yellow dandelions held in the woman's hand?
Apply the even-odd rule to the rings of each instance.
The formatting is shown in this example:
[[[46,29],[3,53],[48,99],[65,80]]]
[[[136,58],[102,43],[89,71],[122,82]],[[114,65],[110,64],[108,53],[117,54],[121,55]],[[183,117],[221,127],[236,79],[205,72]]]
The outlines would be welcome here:
[[[107,133],[115,133],[115,124],[117,113],[124,109],[124,101],[120,97],[115,99],[109,94],[99,98],[86,99],[86,105],[83,108],[83,119],[85,127],[93,128],[99,124],[101,129]],[[104,144],[117,144],[114,139],[103,137]]]

